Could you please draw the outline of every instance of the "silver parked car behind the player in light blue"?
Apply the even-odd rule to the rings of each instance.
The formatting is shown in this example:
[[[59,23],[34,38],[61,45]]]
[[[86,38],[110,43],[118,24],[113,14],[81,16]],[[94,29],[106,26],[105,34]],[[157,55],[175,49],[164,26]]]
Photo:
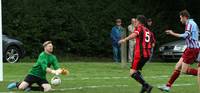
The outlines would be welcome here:
[[[159,47],[159,56],[163,60],[177,60],[186,49],[184,40],[173,41]]]

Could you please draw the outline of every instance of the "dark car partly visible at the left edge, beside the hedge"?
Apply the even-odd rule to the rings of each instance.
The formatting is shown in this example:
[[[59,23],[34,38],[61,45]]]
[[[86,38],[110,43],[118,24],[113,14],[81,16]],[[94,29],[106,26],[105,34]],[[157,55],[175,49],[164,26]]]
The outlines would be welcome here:
[[[8,37],[7,35],[3,36],[3,60],[4,62],[16,63],[20,58],[24,57],[25,50],[24,45],[21,41]]]

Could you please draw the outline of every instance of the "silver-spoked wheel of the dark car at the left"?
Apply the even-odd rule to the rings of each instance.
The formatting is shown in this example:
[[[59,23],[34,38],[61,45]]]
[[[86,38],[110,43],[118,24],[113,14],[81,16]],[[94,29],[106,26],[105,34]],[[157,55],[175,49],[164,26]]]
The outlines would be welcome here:
[[[19,58],[20,50],[15,46],[8,47],[8,49],[5,52],[5,60],[8,63],[16,63],[18,62]]]

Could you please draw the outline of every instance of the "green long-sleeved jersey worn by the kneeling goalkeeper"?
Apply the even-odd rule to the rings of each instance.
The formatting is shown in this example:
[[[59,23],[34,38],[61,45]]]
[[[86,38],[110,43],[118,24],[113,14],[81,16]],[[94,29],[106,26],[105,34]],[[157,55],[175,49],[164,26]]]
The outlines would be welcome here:
[[[51,65],[53,66],[54,70],[60,68],[56,56],[42,52],[40,53],[37,62],[29,71],[29,75],[34,75],[42,79],[46,79],[46,68],[50,68]]]

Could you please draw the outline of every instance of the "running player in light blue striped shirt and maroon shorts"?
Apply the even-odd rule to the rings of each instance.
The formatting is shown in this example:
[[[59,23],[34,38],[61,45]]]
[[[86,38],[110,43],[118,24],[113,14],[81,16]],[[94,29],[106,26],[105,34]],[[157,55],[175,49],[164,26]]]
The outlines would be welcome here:
[[[200,60],[198,60],[200,59],[200,45],[198,42],[199,28],[197,24],[193,21],[193,19],[189,19],[189,17],[190,14],[187,10],[183,10],[180,12],[180,21],[181,23],[185,24],[185,32],[183,34],[175,33],[172,30],[166,31],[167,34],[170,34],[172,36],[184,38],[187,48],[185,49],[182,57],[176,64],[175,69],[172,75],[170,76],[170,79],[167,82],[167,84],[158,87],[161,91],[169,92],[172,87],[172,84],[179,77],[180,72],[194,76],[198,75],[198,84],[200,86]],[[194,63],[196,59],[198,61],[198,70],[189,66],[190,64]]]

